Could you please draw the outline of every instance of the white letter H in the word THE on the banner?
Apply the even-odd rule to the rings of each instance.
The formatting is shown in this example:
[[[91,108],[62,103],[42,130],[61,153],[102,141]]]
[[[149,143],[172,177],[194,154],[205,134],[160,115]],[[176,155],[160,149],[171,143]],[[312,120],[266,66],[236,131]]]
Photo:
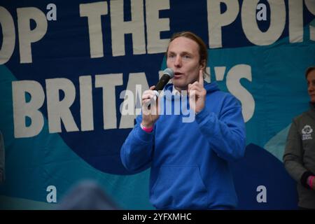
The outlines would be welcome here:
[[[113,56],[125,55],[125,34],[132,34],[134,55],[146,53],[144,1],[131,1],[132,20],[124,22],[124,1],[111,1],[111,43]]]

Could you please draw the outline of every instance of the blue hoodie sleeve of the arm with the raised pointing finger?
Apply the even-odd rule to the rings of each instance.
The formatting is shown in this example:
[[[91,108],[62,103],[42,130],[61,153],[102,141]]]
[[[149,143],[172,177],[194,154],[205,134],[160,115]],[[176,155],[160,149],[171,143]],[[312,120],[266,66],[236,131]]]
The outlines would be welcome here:
[[[196,121],[200,131],[207,137],[211,149],[224,160],[242,158],[246,148],[246,130],[241,105],[232,95],[223,102],[219,116],[210,111],[207,105],[197,113]]]

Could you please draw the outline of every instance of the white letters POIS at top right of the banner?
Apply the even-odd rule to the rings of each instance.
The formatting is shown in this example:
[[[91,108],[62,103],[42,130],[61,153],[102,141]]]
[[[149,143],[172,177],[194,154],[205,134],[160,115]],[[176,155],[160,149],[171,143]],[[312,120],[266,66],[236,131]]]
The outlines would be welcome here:
[[[261,6],[259,0],[244,0],[241,5],[241,25],[248,41],[255,45],[270,45],[279,40],[286,25],[286,4],[283,0],[268,0],[270,25],[267,31],[260,31],[256,20],[265,20],[264,10],[256,14]],[[310,13],[315,15],[315,0],[305,0]],[[221,13],[221,3],[227,8]],[[222,48],[222,27],[231,25],[239,13],[237,0],[207,0],[209,47]],[[301,42],[303,37],[303,2],[288,0],[289,41]],[[259,18],[258,18],[259,16]],[[235,29],[235,28],[233,28]],[[315,27],[309,25],[309,39],[315,41]]]

